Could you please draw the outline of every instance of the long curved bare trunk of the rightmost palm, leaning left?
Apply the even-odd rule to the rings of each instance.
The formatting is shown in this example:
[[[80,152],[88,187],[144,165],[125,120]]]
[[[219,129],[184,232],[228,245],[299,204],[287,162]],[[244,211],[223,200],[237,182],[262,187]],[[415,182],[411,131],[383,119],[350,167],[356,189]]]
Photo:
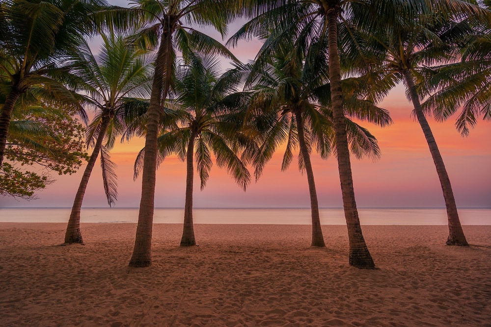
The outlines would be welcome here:
[[[443,198],[445,199],[445,207],[447,208],[448,217],[448,239],[447,245],[461,245],[468,246],[467,240],[465,239],[464,230],[459,220],[459,213],[457,212],[457,204],[455,203],[454,192],[452,191],[452,185],[450,184],[450,178],[448,178],[447,170],[443,164],[443,158],[441,157],[438,146],[436,145],[435,137],[431,131],[430,125],[426,120],[426,117],[421,108],[421,103],[419,102],[419,96],[416,92],[416,87],[412,80],[411,72],[409,69],[404,71],[404,78],[409,87],[409,92],[411,94],[411,100],[414,105],[414,112],[418,119],[419,125],[423,129],[425,134],[426,142],[428,142],[428,147],[430,148],[431,155],[433,157],[433,162],[435,163],[436,173],[440,180],[441,190],[443,191]]]

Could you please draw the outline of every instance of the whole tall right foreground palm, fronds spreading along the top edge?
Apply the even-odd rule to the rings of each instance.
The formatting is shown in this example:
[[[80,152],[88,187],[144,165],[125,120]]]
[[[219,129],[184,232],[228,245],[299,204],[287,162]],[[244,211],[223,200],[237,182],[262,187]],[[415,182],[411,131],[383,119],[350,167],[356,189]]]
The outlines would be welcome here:
[[[241,0],[236,2],[234,14],[251,20],[232,38],[230,44],[251,36],[264,37],[270,33],[261,53],[266,55],[285,40],[294,40],[298,50],[309,47],[313,37],[327,38],[329,55],[330,98],[336,139],[339,177],[343,195],[345,218],[350,242],[350,265],[373,269],[375,265],[363,238],[356,208],[351,171],[341,75],[363,75],[374,64],[367,49],[361,47],[353,27],[371,26],[383,30],[387,25],[404,22],[413,12],[431,14],[462,12],[482,14],[466,1],[394,1],[394,0]],[[393,15],[397,12],[398,15]],[[401,21],[402,20],[402,21]],[[343,32],[346,31],[346,32]],[[353,56],[354,55],[354,56]],[[260,58],[260,57],[259,57]],[[356,60],[352,60],[357,58]],[[343,69],[342,63],[349,65]],[[346,98],[346,97],[345,97]]]

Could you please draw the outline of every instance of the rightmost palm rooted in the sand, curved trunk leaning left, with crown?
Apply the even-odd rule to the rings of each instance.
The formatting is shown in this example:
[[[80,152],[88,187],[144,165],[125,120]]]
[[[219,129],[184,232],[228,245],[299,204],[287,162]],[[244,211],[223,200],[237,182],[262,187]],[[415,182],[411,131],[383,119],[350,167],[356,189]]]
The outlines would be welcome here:
[[[470,11],[481,12],[478,6],[470,6],[469,8],[467,14]],[[395,12],[393,16],[397,16],[397,14]],[[465,14],[466,12],[463,13],[463,15]],[[439,11],[419,12],[418,16],[412,16],[412,22],[410,15],[406,14],[405,18],[404,24],[391,24],[391,28],[383,29],[384,33],[367,33],[366,38],[373,40],[374,45],[382,49],[381,61],[384,74],[391,75],[392,81],[403,81],[407,87],[408,98],[413,103],[414,114],[425,135],[443,191],[449,227],[446,244],[468,246],[459,220],[450,178],[425,117],[420,102],[422,97],[414,82],[415,77],[420,77],[420,71],[425,70],[426,67],[456,59],[455,52],[458,49],[455,40],[462,39],[463,33],[467,32],[465,28],[467,23],[465,21],[453,22],[439,14]],[[422,84],[428,84],[428,82],[429,80],[425,80]],[[428,88],[431,86],[428,87],[427,85],[426,89]],[[421,88],[421,90],[424,89],[425,87]],[[423,91],[424,95],[425,92]],[[454,99],[450,101],[452,100]]]

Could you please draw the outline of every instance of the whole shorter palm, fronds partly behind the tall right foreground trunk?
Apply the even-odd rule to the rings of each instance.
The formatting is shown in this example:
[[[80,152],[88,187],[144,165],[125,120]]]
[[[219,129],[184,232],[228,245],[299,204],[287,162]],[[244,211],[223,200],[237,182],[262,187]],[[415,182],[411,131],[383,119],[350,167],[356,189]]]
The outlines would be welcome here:
[[[300,147],[299,168],[305,171],[309,185],[312,216],[312,246],[324,247],[324,239],[319,217],[319,204],[315,188],[314,175],[310,161],[311,149],[327,158],[334,143],[332,130],[332,111],[319,105],[324,84],[328,78],[327,56],[317,53],[316,43],[306,54],[286,52],[283,47],[277,49],[274,57],[263,67],[251,67],[252,96],[251,106],[273,114],[270,128],[263,132],[262,145],[253,161],[256,178],[262,173],[266,162],[272,158],[279,144],[286,143],[282,170],[286,170],[292,159],[293,149]],[[286,47],[289,49],[289,47]],[[312,55],[315,51],[316,55]],[[256,75],[256,76],[254,76]],[[321,97],[319,97],[319,95]],[[356,98],[355,98],[356,99]],[[329,103],[327,103],[328,105]],[[390,124],[387,112],[369,101],[352,100],[354,108],[370,106],[357,117],[381,124]],[[271,112],[273,111],[273,112]],[[380,154],[375,138],[364,128],[347,120],[352,149],[358,157],[368,154],[377,157]]]

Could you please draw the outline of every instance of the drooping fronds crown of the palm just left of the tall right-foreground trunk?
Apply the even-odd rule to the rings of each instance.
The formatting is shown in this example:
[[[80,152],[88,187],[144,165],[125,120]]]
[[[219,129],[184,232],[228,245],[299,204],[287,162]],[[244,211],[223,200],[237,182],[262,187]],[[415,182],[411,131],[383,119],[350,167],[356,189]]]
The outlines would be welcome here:
[[[322,158],[327,158],[334,148],[332,112],[329,108],[328,60],[326,54],[318,52],[320,46],[322,45],[319,43],[312,44],[306,54],[281,47],[276,49],[274,56],[262,68],[255,64],[248,66],[246,87],[249,89],[249,110],[257,115],[256,119],[262,116],[257,123],[263,125],[265,119],[270,121],[270,125],[262,130],[262,146],[254,156],[256,178],[261,175],[264,165],[281,144],[286,143],[282,170],[290,165],[293,150],[298,147],[299,141],[297,123],[293,117],[296,110],[305,124],[303,129],[308,151],[314,148]],[[355,82],[358,82],[355,78],[344,80],[345,89],[353,90],[352,97],[345,99],[347,113],[381,126],[391,124],[392,120],[385,109],[377,107],[372,101],[357,97],[359,94],[355,90],[358,90],[359,84]],[[349,119],[347,126],[351,151],[356,157],[380,156],[377,140],[367,129]],[[299,168],[304,168],[301,153]]]

